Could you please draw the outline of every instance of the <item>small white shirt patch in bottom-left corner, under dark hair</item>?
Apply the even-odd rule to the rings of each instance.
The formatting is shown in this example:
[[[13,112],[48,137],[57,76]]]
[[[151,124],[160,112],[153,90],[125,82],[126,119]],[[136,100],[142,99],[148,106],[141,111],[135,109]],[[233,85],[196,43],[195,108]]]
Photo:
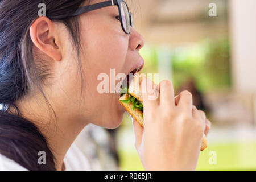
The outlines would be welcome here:
[[[27,169],[0,154],[0,171],[27,171]]]

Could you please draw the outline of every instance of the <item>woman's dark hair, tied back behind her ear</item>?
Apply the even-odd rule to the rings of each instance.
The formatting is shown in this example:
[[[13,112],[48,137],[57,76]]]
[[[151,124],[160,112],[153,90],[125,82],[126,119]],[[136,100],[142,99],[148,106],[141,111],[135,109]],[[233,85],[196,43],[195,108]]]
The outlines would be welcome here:
[[[0,153],[28,170],[56,170],[55,157],[47,139],[31,121],[20,115],[14,104],[35,88],[40,90],[47,101],[42,84],[51,73],[44,62],[35,62],[30,26],[38,18],[39,3],[44,3],[46,16],[67,27],[79,58],[79,22],[77,17],[69,15],[83,2],[84,0],[0,1],[0,103],[15,107],[18,113],[0,111]],[[78,63],[83,78],[80,59]],[[51,106],[48,101],[47,103]],[[55,114],[54,110],[53,113]],[[46,165],[38,164],[39,151],[46,152]]]

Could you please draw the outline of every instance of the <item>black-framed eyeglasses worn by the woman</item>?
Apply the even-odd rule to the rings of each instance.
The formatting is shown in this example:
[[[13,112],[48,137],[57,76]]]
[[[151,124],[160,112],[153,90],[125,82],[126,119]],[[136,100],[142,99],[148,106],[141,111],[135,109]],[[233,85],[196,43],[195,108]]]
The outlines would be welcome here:
[[[79,7],[79,9],[77,9],[76,12],[74,14],[72,14],[71,16],[77,16],[82,13],[86,13],[86,12],[92,11],[92,10],[97,10],[97,9],[100,9],[102,7],[107,7],[107,6],[117,6],[118,7],[119,18],[120,18],[120,22],[121,22],[123,31],[126,34],[130,34],[131,27],[134,27],[133,15],[129,12],[129,8],[128,8],[126,2],[123,0],[111,0],[111,1],[96,3],[93,5]]]

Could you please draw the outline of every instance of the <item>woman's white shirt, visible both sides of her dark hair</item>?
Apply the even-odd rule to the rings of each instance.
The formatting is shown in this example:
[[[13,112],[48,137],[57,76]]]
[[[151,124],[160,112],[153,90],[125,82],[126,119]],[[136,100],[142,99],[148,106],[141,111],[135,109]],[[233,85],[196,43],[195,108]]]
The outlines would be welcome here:
[[[79,148],[73,143],[64,158],[66,171],[91,170],[88,160]],[[42,164],[43,165],[43,164]],[[0,154],[0,171],[27,171],[14,160]]]

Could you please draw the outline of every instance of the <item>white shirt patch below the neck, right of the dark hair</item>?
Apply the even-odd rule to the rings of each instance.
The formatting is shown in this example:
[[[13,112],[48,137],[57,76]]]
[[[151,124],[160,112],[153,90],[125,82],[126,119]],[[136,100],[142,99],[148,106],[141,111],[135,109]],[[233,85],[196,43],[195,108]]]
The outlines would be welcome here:
[[[66,171],[88,171],[91,170],[86,156],[79,150],[75,143],[72,143],[64,158]]]

